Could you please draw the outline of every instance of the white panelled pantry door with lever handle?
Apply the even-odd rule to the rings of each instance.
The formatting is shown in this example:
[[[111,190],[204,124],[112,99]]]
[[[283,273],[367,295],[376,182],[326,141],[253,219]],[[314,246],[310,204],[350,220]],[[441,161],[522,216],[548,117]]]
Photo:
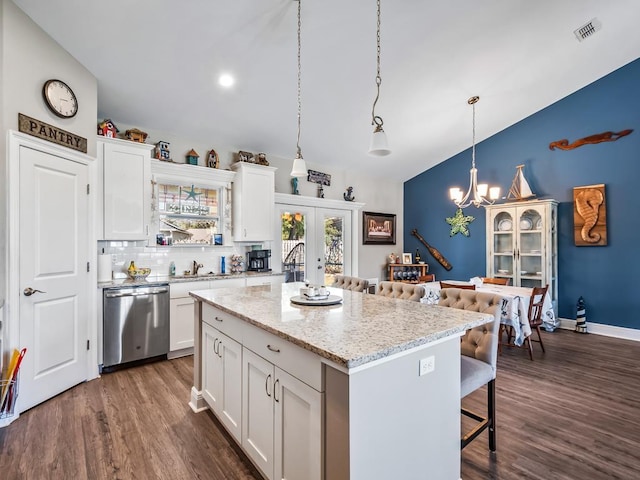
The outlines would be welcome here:
[[[88,377],[88,175],[87,165],[20,147],[20,411]]]

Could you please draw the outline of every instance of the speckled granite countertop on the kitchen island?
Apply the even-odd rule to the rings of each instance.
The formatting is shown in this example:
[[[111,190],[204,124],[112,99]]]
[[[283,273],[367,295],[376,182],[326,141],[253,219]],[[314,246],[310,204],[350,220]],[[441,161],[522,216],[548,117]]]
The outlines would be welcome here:
[[[329,288],[343,301],[332,306],[291,303],[302,283],[196,290],[196,300],[310,350],[347,369],[458,336],[494,317],[379,295]]]

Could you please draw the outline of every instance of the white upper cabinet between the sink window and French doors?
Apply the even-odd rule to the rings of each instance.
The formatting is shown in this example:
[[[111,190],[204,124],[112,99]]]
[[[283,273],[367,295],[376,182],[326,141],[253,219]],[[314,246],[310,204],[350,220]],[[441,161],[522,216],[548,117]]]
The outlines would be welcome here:
[[[233,239],[273,240],[275,171],[273,167],[237,162],[233,183]]]

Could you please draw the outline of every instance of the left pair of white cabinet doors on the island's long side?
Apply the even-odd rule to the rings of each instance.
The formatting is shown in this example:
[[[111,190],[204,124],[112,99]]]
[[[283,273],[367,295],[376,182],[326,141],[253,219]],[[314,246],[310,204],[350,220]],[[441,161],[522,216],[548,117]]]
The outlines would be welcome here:
[[[202,325],[202,396],[238,442],[242,435],[242,345]]]

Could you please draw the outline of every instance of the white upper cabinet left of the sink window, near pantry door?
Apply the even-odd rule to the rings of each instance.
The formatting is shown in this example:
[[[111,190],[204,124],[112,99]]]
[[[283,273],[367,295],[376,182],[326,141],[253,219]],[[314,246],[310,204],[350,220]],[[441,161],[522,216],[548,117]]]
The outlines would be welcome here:
[[[153,145],[100,137],[101,240],[148,240]]]

